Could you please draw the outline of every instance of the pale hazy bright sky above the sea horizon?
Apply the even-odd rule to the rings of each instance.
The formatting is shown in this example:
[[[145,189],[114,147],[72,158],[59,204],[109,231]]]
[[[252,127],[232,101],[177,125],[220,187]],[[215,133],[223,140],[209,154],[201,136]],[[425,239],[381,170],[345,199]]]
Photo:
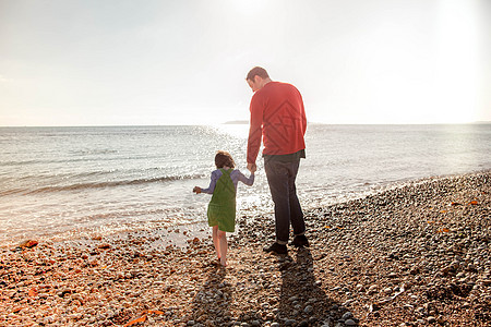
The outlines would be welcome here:
[[[0,0],[0,125],[247,120],[254,65],[314,122],[491,121],[491,1]]]

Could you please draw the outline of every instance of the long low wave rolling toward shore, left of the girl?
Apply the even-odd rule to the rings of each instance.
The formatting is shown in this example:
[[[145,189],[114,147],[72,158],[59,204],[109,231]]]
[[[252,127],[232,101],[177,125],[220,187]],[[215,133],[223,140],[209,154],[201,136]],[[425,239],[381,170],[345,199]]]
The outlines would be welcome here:
[[[156,178],[143,178],[143,179],[131,179],[131,180],[120,180],[120,181],[104,181],[104,182],[83,182],[83,183],[73,183],[68,185],[48,185],[48,186],[39,186],[36,189],[10,189],[0,191],[1,196],[8,196],[13,194],[43,194],[43,193],[57,193],[57,192],[76,192],[84,190],[94,190],[94,189],[110,189],[110,187],[120,187],[120,186],[130,186],[130,185],[144,185],[151,183],[161,183],[161,182],[172,182],[179,180],[195,180],[205,178],[204,174],[182,174],[182,175],[166,175],[166,177],[156,177]]]

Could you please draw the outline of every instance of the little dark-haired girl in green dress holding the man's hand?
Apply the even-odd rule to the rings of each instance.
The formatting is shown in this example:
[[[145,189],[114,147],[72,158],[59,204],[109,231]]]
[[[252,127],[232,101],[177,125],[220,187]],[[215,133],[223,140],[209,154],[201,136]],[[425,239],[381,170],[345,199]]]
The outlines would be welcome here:
[[[194,186],[196,194],[208,193],[212,201],[208,204],[208,226],[213,227],[213,244],[221,266],[227,266],[227,234],[236,228],[236,193],[237,183],[241,181],[251,186],[254,183],[254,171],[247,178],[240,170],[233,170],[236,164],[227,152],[217,152],[215,156],[216,170],[212,172],[212,181],[207,189]]]

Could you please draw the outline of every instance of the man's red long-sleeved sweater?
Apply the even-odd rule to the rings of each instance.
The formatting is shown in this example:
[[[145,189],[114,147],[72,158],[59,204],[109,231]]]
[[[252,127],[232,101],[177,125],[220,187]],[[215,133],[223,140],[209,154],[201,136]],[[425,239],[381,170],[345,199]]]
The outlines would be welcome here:
[[[306,148],[306,109],[300,92],[287,83],[270,82],[251,99],[248,164],[255,164],[264,143],[264,155],[289,155]]]

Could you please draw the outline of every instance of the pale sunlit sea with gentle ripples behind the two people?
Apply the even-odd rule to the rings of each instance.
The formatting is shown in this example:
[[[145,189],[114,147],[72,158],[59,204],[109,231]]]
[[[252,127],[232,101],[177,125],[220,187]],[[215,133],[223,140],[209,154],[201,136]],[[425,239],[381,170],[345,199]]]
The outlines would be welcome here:
[[[0,245],[206,222],[217,150],[246,169],[247,124],[0,128]],[[308,125],[304,209],[491,169],[491,124]],[[263,161],[238,215],[272,215]]]

